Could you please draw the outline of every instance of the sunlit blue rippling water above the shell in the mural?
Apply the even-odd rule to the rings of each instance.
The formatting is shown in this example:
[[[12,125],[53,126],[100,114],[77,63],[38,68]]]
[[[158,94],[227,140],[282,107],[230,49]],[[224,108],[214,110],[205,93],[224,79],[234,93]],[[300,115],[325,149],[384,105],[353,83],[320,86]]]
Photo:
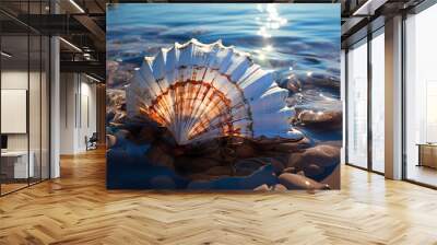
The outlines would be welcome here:
[[[279,83],[290,74],[340,80],[340,4],[113,4],[106,20],[108,60],[222,39],[274,70]]]

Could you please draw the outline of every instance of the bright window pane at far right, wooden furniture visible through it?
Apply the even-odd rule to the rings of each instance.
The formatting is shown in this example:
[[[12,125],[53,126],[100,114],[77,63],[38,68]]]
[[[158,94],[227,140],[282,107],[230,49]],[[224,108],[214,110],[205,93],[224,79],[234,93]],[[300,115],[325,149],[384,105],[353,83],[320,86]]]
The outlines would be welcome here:
[[[437,186],[437,4],[406,19],[406,178]]]

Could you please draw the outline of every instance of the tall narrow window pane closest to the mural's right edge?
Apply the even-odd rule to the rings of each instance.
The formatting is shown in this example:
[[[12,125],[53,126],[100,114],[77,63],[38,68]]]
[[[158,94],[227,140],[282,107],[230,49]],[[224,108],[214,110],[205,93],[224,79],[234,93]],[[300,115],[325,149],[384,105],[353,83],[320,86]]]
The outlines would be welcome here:
[[[347,52],[347,162],[367,167],[367,44]]]

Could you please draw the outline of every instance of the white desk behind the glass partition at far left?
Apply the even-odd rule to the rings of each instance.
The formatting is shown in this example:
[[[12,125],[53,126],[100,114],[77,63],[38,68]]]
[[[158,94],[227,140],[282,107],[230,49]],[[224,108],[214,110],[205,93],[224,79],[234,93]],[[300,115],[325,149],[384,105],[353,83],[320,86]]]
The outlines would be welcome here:
[[[27,156],[31,156],[27,166]],[[34,177],[34,159],[35,154],[31,151],[27,155],[27,151],[5,151],[1,152],[1,165],[2,172],[8,178],[27,178]],[[12,171],[13,168],[13,171]]]

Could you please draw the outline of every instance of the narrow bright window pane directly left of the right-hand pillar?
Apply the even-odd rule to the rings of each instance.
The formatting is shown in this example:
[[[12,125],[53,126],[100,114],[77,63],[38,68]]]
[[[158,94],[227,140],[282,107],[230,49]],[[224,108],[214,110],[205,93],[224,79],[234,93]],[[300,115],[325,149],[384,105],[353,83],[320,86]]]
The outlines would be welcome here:
[[[385,171],[385,38],[371,40],[371,167]]]

